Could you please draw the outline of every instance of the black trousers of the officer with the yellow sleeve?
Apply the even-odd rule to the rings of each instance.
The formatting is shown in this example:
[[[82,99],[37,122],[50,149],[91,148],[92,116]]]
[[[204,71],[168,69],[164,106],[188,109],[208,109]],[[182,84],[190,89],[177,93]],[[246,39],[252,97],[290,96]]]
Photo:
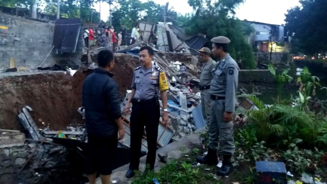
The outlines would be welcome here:
[[[160,107],[157,99],[152,99],[145,102],[133,101],[132,114],[130,118],[131,160],[129,169],[138,170],[144,126],[148,142],[148,155],[146,165],[150,165],[149,169],[154,168],[157,150],[159,118]]]

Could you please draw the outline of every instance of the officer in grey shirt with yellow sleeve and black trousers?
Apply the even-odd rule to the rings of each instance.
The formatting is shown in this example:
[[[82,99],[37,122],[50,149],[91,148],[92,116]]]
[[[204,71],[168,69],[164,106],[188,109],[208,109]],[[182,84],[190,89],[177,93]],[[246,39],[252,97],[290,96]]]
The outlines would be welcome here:
[[[162,122],[164,125],[168,123],[168,80],[165,72],[158,66],[152,64],[153,54],[152,48],[148,46],[142,47],[139,50],[138,56],[142,66],[135,68],[132,80],[132,92],[124,108],[125,113],[130,112],[132,102],[133,106],[130,117],[131,159],[129,170],[126,173],[127,178],[133,177],[135,170],[138,170],[144,126],[148,142],[147,168],[144,174],[147,174],[148,169],[154,169],[160,119],[158,91],[160,91],[162,107],[164,108]]]

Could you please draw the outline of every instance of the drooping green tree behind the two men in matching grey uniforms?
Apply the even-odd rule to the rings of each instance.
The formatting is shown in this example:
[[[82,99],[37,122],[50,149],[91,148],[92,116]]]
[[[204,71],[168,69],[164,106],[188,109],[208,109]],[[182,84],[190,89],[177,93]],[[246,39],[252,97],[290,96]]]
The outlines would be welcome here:
[[[230,55],[240,67],[253,69],[256,67],[251,46],[245,41],[252,29],[241,20],[235,18],[235,9],[243,0],[189,0],[189,5],[196,11],[185,25],[185,32],[194,35],[205,34],[207,38],[222,35],[228,37]]]

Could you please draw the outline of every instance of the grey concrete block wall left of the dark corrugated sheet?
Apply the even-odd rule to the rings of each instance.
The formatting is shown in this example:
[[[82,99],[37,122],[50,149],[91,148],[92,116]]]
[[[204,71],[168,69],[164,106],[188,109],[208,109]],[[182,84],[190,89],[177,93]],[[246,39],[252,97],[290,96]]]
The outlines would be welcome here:
[[[54,24],[0,13],[0,71],[15,67],[36,68],[53,47]],[[48,57],[44,65],[53,66]]]

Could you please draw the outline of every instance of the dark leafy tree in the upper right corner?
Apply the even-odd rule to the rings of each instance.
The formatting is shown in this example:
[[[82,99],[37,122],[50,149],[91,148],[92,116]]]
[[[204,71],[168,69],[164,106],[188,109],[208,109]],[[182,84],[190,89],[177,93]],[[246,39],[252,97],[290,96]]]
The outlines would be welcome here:
[[[325,0],[300,1],[302,7],[294,7],[285,14],[285,28],[293,37],[292,45],[307,55],[327,51],[327,2]],[[295,50],[295,51],[296,51]]]

